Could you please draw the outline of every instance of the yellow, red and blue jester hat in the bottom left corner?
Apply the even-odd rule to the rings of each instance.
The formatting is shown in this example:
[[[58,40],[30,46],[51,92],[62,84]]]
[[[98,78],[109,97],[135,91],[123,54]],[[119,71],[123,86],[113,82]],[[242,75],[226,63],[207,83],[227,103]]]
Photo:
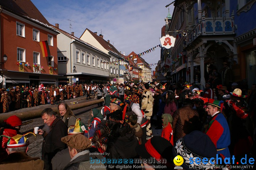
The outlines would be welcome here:
[[[1,136],[4,136],[4,137],[8,138],[7,148],[18,148],[18,147],[24,147],[24,146],[29,145],[29,141],[27,140],[27,135],[28,134],[33,134],[34,136],[36,136],[32,132],[27,132],[24,135],[16,135],[14,137],[5,136],[5,135],[1,135]]]

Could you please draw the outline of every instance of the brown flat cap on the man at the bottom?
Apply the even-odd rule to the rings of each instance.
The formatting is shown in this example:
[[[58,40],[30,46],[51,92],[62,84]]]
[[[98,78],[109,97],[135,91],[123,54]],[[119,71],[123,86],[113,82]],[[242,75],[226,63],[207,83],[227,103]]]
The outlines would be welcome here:
[[[74,134],[62,137],[62,142],[75,149],[87,149],[91,146],[91,141],[82,134]]]

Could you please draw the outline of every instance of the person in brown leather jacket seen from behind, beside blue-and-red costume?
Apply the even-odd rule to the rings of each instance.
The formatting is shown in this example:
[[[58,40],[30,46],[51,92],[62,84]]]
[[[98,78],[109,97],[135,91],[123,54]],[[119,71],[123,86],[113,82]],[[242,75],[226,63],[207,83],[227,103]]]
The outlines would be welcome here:
[[[194,130],[200,130],[198,112],[192,107],[192,101],[186,98],[182,108],[178,109],[173,115],[172,129],[175,142]]]

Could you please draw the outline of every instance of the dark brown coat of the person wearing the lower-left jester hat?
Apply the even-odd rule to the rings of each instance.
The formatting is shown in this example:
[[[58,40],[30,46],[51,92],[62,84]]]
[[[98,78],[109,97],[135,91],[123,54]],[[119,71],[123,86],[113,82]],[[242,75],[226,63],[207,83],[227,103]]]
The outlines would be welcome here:
[[[29,157],[25,152],[14,152],[0,163],[3,170],[43,170],[44,162],[40,158]]]

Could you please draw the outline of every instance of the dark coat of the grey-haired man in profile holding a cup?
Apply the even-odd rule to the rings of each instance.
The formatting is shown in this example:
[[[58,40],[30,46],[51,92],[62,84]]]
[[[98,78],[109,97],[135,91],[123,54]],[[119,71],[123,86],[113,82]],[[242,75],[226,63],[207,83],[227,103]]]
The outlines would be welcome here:
[[[42,160],[45,169],[52,169],[52,158],[57,152],[66,148],[61,138],[68,135],[68,127],[59,117],[55,118],[50,128],[48,134],[43,133]]]

